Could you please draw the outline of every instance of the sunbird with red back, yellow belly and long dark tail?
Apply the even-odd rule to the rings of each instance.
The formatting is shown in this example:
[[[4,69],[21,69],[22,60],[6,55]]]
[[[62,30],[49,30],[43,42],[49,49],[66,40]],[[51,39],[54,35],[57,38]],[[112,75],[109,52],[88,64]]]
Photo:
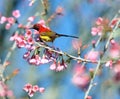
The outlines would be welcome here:
[[[40,23],[36,23],[32,26],[32,29],[35,29],[39,32],[39,37],[42,41],[45,42],[53,42],[56,38],[58,37],[72,37],[72,38],[78,38],[76,36],[71,36],[71,35],[65,35],[65,34],[58,34],[51,29],[49,29],[46,26],[43,26]]]

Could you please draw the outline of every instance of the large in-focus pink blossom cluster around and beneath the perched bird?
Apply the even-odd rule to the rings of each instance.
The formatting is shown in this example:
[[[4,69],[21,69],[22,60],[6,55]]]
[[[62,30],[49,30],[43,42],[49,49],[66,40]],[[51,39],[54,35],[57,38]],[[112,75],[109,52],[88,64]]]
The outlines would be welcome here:
[[[43,20],[39,23],[44,27],[49,28],[45,26],[45,22]],[[62,71],[67,68],[67,65],[61,55],[36,45],[36,42],[46,45],[44,42],[41,42],[38,31],[32,32],[29,28],[25,29],[25,31],[26,32],[24,34],[13,34],[10,37],[10,41],[15,41],[18,48],[27,49],[27,52],[23,55],[23,58],[26,59],[29,64],[40,66],[41,64],[52,62],[50,66],[51,70]],[[53,49],[60,51],[58,48],[53,47]]]

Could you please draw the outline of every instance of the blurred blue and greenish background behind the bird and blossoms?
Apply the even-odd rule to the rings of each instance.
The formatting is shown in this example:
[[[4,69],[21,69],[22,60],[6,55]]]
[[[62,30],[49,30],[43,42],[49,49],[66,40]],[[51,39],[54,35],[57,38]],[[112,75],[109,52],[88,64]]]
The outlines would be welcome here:
[[[97,39],[92,37],[90,32],[98,17],[111,20],[120,9],[120,0],[49,0],[48,13],[41,16],[44,11],[41,1],[35,0],[32,6],[29,6],[30,2],[30,0],[0,0],[0,17],[10,17],[13,10],[19,10],[21,16],[18,21],[25,25],[28,18],[36,13],[37,18],[33,23],[40,19],[47,20],[55,13],[58,7],[62,7],[63,15],[57,15],[50,21],[50,28],[57,33],[78,36],[83,45],[91,44],[93,39]],[[6,30],[5,23],[0,24],[1,63],[4,62],[7,52],[13,44],[13,42],[9,41],[9,38],[15,32],[16,27],[14,25],[9,30]],[[53,45],[64,52],[77,55],[72,41],[72,38],[61,37],[57,38]],[[25,52],[25,49],[18,48],[13,51],[9,59],[11,64],[6,68],[4,74],[7,76],[14,69],[20,69],[18,75],[7,81],[7,85],[13,91],[16,99],[27,99],[27,93],[23,91],[26,83],[37,84],[46,89],[43,94],[35,94],[31,99],[83,99],[85,94],[83,88],[72,83],[73,70],[77,65],[75,61],[71,61],[66,70],[54,72],[49,69],[50,64],[37,67],[28,64],[23,59]],[[84,52],[82,55],[84,55]],[[86,68],[90,67],[95,67],[95,65],[86,65]],[[92,99],[120,99],[120,82],[112,82],[112,76],[112,72],[108,68],[103,68],[101,75],[96,79],[97,86],[93,87],[90,92]]]

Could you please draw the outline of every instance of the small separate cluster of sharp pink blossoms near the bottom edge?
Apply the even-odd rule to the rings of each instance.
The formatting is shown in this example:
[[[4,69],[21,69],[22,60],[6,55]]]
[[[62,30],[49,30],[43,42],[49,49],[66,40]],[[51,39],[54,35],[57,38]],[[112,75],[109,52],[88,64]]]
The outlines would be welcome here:
[[[24,86],[23,90],[28,93],[29,97],[33,97],[33,95],[36,92],[43,93],[45,91],[45,88],[39,87],[38,85],[33,86],[33,85],[28,83]]]

